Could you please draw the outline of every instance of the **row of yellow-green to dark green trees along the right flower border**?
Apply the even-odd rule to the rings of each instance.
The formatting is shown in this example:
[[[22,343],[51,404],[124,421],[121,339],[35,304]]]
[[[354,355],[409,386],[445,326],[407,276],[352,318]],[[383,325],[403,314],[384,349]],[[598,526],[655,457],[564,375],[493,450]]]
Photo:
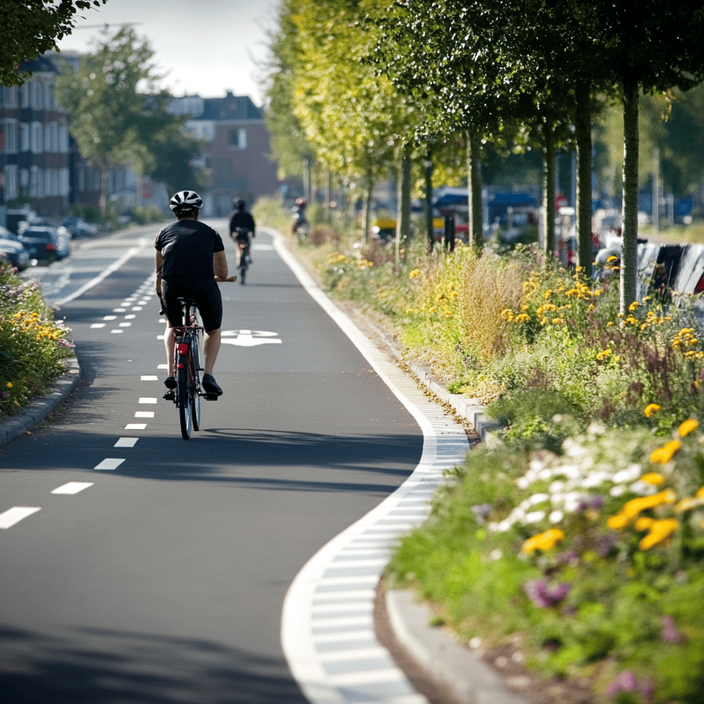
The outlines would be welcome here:
[[[579,263],[591,272],[591,127],[605,104],[619,104],[622,308],[634,300],[640,99],[702,82],[703,8],[665,0],[284,0],[279,19],[268,97],[284,168],[305,151],[370,188],[392,162],[403,200],[407,160],[461,140],[477,247],[484,145],[532,145],[543,154],[548,253],[555,151],[574,145]]]

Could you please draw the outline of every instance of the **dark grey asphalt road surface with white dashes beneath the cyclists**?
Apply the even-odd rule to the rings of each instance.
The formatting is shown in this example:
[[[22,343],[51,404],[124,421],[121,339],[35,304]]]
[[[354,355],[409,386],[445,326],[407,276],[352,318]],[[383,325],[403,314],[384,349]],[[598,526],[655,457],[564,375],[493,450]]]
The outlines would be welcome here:
[[[413,417],[265,233],[246,285],[220,284],[225,394],[182,440],[161,398],[156,230],[39,272],[89,385],[0,449],[0,512],[39,509],[0,530],[2,704],[305,702],[280,645],[287,588],[420,459]]]

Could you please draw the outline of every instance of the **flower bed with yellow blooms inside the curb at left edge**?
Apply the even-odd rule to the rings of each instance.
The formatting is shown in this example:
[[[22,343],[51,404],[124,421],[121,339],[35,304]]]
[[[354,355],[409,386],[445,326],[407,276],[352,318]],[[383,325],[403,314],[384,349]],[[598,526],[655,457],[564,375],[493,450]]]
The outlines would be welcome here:
[[[0,419],[42,393],[73,357],[68,328],[54,320],[39,284],[0,259]]]

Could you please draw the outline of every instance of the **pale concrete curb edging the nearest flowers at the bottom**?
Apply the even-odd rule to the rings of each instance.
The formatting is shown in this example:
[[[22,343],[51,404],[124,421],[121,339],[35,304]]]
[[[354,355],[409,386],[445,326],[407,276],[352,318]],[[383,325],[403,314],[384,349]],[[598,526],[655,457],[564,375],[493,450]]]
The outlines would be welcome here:
[[[428,625],[432,613],[415,603],[413,593],[391,589],[385,595],[389,623],[416,662],[443,684],[462,704],[528,704],[506,688],[475,653],[457,643],[446,629]]]

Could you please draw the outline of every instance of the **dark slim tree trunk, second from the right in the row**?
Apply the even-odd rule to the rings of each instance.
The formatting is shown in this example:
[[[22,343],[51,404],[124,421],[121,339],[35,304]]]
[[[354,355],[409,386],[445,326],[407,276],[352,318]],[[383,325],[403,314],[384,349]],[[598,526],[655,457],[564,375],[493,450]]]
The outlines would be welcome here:
[[[579,266],[591,277],[591,94],[589,82],[577,84],[577,241]]]

